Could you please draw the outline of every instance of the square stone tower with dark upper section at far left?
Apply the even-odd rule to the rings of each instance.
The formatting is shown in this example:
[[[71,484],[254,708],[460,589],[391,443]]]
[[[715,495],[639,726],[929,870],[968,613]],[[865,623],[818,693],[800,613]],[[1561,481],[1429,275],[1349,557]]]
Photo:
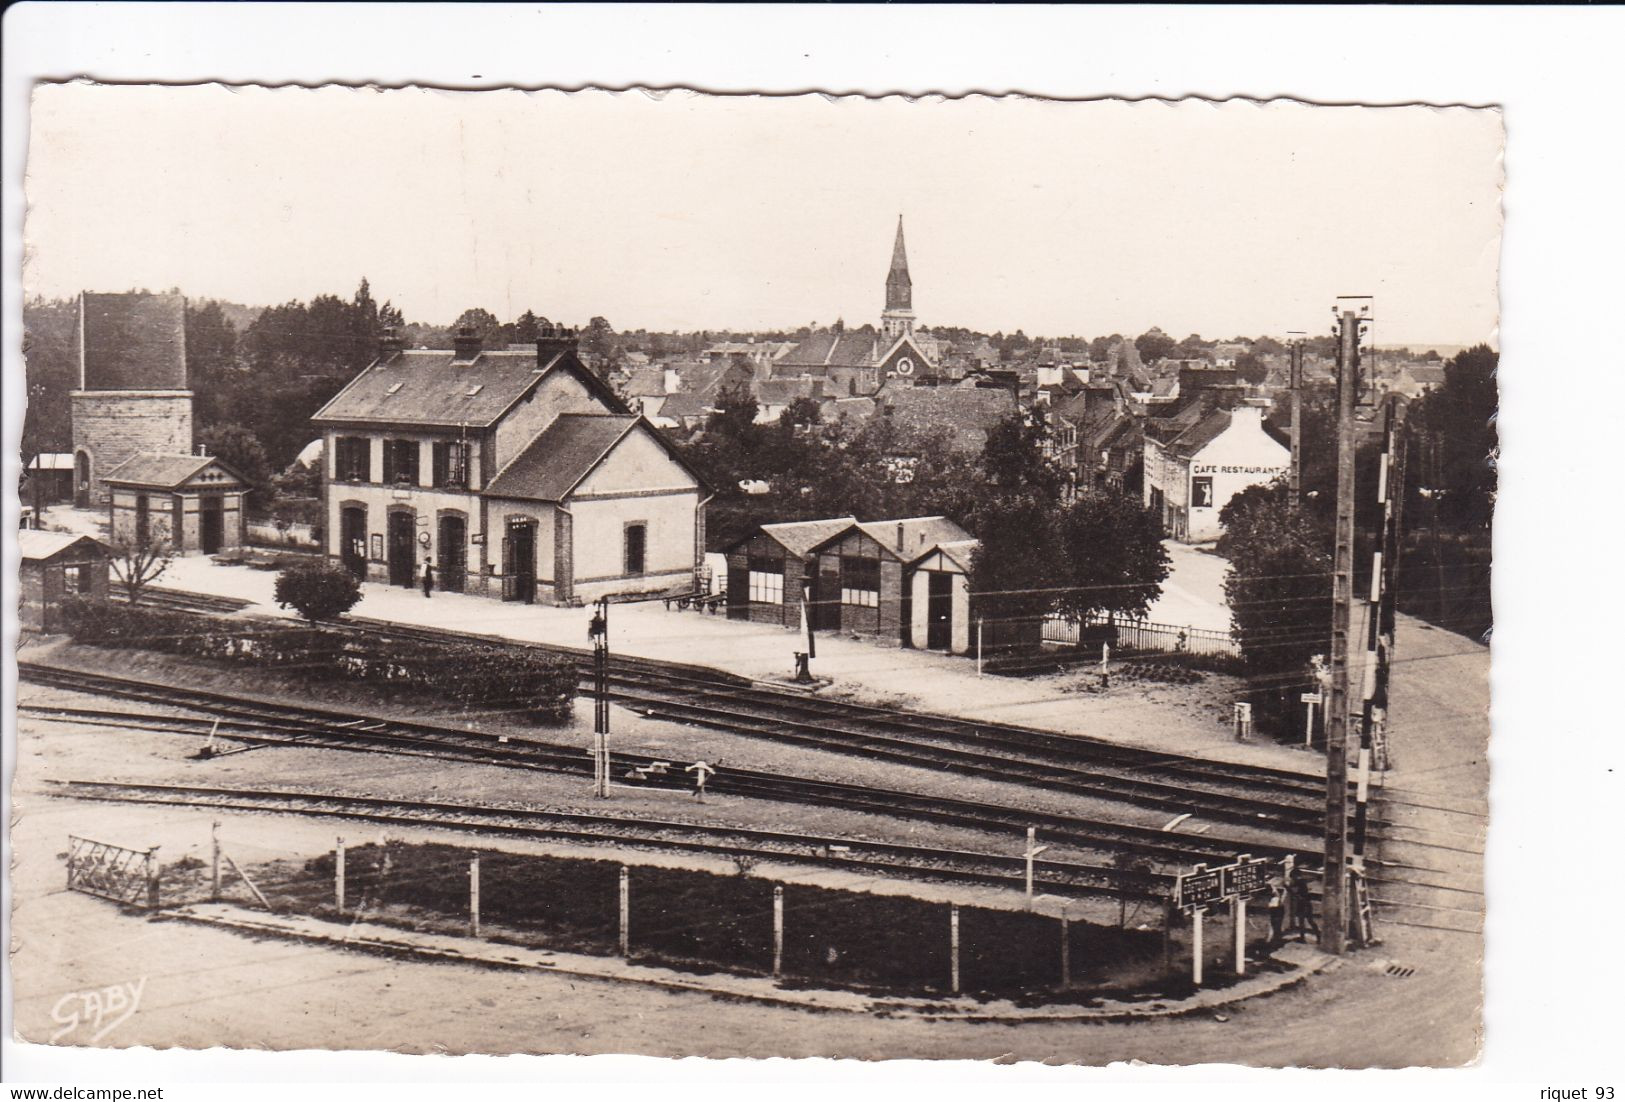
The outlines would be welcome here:
[[[192,453],[187,301],[179,294],[80,294],[75,327],[73,501],[107,501],[102,478],[138,452]]]

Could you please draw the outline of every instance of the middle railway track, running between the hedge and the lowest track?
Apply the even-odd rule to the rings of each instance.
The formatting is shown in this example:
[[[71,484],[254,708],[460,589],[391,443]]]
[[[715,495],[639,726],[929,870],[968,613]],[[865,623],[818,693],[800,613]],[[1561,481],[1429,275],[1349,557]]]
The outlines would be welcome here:
[[[450,725],[401,722],[380,717],[336,712],[310,705],[288,705],[244,696],[224,696],[184,689],[162,683],[136,681],[109,675],[21,663],[21,676],[62,689],[115,696],[172,709],[197,710],[197,717],[156,715],[114,709],[75,709],[58,705],[24,705],[26,710],[68,722],[115,727],[138,727],[195,736],[221,735],[255,744],[301,744],[346,751],[418,754],[442,761],[466,761],[520,769],[587,775],[588,757],[582,748],[525,736],[497,736]],[[681,774],[647,774],[648,762],[629,754],[613,754],[613,769],[622,780],[640,775],[639,787],[682,788]],[[980,832],[1022,837],[1037,827],[1051,845],[1069,845],[1102,855],[1131,853],[1150,863],[1188,866],[1198,861],[1217,863],[1238,852],[1258,857],[1285,857],[1313,861],[1311,847],[1261,844],[1207,834],[1175,834],[1155,827],[1124,822],[1020,811],[1003,805],[926,796],[866,785],[812,780],[783,774],[728,769],[712,780],[712,790],[739,796],[842,808],[886,818],[908,818]],[[1014,852],[1014,840],[1012,840]],[[1443,870],[1414,863],[1373,863],[1373,883],[1394,884],[1396,891],[1458,891],[1428,878]],[[1420,878],[1419,878],[1420,876]]]

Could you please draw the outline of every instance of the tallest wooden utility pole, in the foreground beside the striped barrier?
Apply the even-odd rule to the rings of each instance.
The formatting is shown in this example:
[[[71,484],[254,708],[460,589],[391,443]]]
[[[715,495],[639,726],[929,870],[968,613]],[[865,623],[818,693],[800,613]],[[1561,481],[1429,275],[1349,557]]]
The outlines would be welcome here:
[[[1354,608],[1354,405],[1360,317],[1344,310],[1337,333],[1337,527],[1331,579],[1331,701],[1326,705],[1326,873],[1320,946],[1341,954],[1349,939],[1349,624]]]

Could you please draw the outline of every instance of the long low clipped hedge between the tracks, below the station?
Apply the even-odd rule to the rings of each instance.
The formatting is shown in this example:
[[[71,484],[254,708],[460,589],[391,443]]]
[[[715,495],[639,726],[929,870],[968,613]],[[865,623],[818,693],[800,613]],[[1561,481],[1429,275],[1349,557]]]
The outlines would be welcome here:
[[[81,598],[65,601],[62,611],[73,640],[93,647],[297,670],[318,681],[379,686],[390,696],[422,692],[544,723],[572,715],[578,683],[572,658],[528,647],[385,639]]]

